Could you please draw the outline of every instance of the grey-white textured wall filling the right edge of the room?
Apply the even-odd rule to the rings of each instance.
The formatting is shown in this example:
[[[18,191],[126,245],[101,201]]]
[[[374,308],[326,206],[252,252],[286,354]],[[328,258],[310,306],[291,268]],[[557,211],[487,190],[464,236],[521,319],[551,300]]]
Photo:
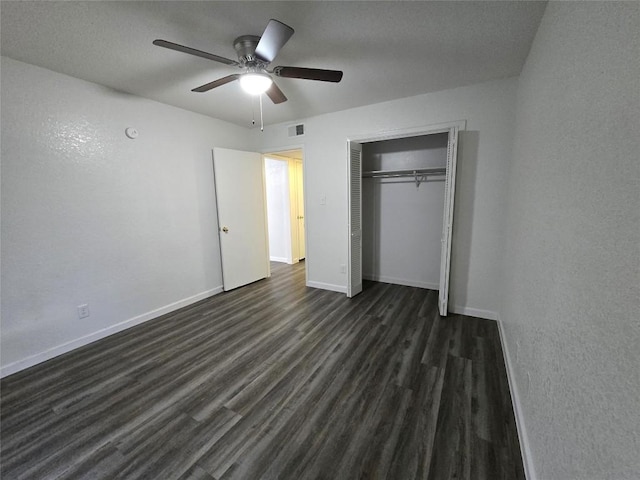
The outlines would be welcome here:
[[[500,318],[532,479],[640,478],[639,32],[637,2],[550,2],[520,78]]]

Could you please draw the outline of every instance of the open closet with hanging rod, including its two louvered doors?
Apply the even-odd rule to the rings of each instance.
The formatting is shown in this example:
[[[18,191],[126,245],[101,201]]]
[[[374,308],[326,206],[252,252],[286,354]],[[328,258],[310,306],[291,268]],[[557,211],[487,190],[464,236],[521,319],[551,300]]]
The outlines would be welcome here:
[[[363,279],[438,290],[447,314],[460,126],[348,141],[348,296]]]

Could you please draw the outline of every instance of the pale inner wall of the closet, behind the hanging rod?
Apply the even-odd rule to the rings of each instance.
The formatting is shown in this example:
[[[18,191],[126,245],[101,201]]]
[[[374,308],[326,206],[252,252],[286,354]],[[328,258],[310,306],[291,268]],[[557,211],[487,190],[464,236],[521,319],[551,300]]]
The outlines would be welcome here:
[[[447,165],[446,133],[362,145],[362,169],[412,170]],[[362,179],[362,276],[438,290],[444,176]]]

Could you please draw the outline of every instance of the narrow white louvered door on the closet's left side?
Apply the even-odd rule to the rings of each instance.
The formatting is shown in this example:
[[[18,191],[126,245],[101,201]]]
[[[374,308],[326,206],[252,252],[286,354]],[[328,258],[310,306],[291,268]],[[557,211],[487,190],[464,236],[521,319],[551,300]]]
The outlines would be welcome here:
[[[349,271],[347,296],[362,292],[362,145],[349,142]]]

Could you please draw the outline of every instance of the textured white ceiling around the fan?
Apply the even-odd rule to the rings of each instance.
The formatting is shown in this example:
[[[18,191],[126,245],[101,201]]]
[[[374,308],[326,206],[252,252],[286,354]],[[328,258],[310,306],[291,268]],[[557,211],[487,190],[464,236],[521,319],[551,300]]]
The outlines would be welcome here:
[[[152,45],[156,38],[236,59],[233,40],[270,18],[295,29],[272,63],[344,71],[341,83],[278,78],[265,123],[518,75],[545,2],[0,3],[2,55],[250,126],[255,99],[234,82],[194,87],[234,67]]]

